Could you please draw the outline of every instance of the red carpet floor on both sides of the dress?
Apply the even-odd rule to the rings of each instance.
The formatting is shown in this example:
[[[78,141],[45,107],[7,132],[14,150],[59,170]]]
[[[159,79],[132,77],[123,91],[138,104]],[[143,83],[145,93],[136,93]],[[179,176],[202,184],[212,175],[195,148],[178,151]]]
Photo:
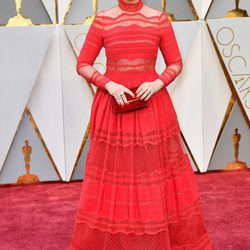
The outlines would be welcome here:
[[[250,171],[196,175],[215,250],[250,249]],[[0,188],[0,249],[68,249],[81,181]]]

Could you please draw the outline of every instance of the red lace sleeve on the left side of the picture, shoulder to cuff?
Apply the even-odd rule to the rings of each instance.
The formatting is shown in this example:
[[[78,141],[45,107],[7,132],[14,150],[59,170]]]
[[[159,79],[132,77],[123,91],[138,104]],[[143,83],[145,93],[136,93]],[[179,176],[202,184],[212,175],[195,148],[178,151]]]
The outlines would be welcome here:
[[[103,46],[103,30],[103,16],[96,15],[89,27],[76,65],[78,75],[102,89],[110,79],[94,68],[93,64]]]

